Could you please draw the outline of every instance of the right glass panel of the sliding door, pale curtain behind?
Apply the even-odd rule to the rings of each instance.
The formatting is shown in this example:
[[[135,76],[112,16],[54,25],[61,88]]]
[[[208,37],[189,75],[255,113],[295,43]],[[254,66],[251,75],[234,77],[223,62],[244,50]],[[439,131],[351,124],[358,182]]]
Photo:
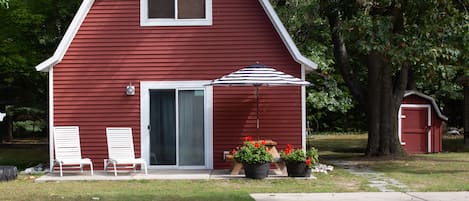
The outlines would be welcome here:
[[[179,165],[204,165],[204,91],[178,92]]]

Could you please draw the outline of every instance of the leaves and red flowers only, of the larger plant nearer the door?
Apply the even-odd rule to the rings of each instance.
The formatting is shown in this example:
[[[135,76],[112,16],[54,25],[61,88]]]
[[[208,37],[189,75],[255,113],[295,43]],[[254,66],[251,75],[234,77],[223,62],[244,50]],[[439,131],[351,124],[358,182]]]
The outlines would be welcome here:
[[[245,141],[243,146],[234,154],[234,159],[240,163],[250,165],[272,162],[272,154],[269,153],[263,142],[265,141]]]

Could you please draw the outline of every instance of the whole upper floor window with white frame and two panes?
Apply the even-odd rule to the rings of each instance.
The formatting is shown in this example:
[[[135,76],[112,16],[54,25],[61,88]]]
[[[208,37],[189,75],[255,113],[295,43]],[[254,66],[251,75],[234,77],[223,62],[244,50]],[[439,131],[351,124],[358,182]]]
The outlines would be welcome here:
[[[212,25],[212,0],[140,0],[140,25]]]

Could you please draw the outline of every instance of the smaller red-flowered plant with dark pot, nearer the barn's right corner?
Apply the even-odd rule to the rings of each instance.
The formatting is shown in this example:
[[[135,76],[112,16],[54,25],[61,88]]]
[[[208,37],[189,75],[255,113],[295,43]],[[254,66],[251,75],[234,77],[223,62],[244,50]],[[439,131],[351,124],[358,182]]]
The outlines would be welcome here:
[[[280,158],[287,166],[289,177],[309,177],[311,168],[318,162],[318,150],[311,147],[305,151],[303,149],[294,149],[291,144],[280,152]]]

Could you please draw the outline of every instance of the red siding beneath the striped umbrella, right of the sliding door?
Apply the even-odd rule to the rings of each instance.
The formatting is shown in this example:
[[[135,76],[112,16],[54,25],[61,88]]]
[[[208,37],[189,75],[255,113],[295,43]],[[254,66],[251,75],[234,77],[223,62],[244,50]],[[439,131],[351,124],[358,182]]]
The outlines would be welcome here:
[[[223,151],[242,144],[243,136],[301,146],[301,90],[299,87],[260,87],[259,122],[256,133],[255,87],[215,87],[214,163],[216,169],[228,168]]]

